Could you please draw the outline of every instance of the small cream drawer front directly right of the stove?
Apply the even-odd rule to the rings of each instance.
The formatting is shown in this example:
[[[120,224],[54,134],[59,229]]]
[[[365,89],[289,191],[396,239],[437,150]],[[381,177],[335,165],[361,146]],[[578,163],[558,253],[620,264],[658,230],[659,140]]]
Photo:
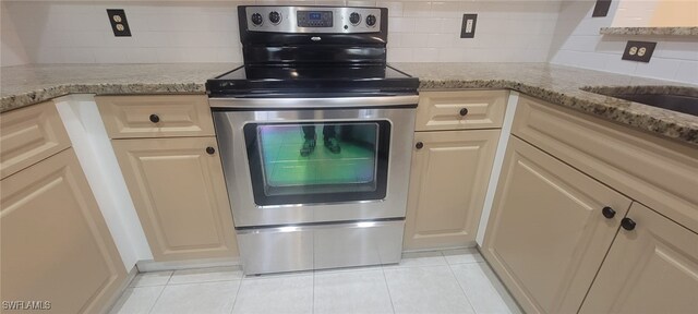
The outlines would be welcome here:
[[[507,90],[421,92],[414,129],[502,128],[508,95]],[[461,116],[464,109],[466,116]]]

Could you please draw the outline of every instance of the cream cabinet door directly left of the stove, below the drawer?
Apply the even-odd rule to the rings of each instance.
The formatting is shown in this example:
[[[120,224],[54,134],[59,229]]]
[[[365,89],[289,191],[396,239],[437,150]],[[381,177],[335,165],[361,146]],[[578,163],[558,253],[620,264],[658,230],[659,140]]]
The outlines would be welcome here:
[[[111,143],[155,261],[238,256],[215,137]]]

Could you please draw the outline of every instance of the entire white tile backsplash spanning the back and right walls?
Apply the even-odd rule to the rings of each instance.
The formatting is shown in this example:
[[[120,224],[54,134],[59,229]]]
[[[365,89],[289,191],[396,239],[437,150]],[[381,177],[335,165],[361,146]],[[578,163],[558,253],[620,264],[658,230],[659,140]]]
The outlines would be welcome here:
[[[552,62],[698,80],[694,38],[642,38],[658,41],[651,62],[621,60],[631,38],[599,35],[600,27],[612,25],[617,1],[606,17],[591,17],[593,1],[586,0],[3,1],[3,52],[23,52],[24,62],[33,63],[241,62],[241,4],[388,8],[389,62]],[[125,10],[132,37],[113,36],[108,8]],[[459,38],[464,13],[478,14],[474,38]],[[8,50],[10,45],[21,47]],[[3,57],[2,65],[17,60]]]

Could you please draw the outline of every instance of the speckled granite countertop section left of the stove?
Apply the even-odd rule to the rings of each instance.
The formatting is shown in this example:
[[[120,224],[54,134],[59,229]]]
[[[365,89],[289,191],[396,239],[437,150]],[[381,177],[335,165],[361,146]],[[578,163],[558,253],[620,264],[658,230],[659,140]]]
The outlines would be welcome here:
[[[49,64],[0,70],[0,112],[68,94],[205,94],[239,63]]]

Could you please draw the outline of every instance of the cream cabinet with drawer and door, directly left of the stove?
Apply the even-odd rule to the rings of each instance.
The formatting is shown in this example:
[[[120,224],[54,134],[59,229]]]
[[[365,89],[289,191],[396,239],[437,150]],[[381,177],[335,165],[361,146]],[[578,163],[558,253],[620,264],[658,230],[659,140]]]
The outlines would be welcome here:
[[[237,257],[206,96],[95,99],[154,259]]]

